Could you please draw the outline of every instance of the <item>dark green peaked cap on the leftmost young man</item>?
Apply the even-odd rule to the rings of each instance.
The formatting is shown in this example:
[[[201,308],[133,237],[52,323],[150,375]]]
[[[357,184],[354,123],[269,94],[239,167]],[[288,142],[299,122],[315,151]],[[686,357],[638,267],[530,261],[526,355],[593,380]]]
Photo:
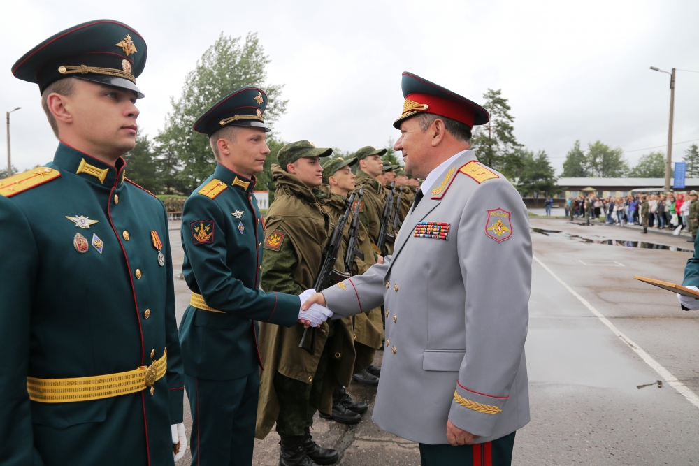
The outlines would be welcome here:
[[[136,78],[143,73],[147,48],[134,29],[114,20],[78,24],[46,39],[12,67],[15,78],[34,82],[44,92],[62,78],[80,78],[122,89],[143,98]]]

